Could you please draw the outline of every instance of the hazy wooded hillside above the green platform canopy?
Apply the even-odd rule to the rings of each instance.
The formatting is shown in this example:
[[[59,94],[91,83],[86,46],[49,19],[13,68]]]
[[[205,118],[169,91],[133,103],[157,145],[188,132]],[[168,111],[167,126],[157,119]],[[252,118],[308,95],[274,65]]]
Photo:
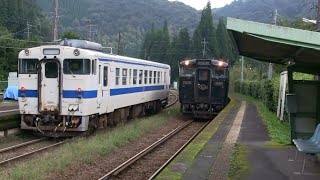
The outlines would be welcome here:
[[[313,2],[316,0],[237,0],[223,8],[214,9],[214,12],[217,16],[272,23],[275,9],[278,10],[280,18],[315,18]]]

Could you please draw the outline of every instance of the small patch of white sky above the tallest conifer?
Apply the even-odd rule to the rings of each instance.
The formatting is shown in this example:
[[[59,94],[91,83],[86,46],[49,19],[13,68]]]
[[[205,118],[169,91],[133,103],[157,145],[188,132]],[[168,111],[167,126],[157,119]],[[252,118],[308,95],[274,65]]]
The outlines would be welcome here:
[[[208,2],[208,0],[170,0],[170,1],[180,1],[185,3],[186,5],[196,8],[197,10],[203,9]],[[223,7],[227,4],[230,4],[232,1],[234,0],[210,0],[212,8]]]

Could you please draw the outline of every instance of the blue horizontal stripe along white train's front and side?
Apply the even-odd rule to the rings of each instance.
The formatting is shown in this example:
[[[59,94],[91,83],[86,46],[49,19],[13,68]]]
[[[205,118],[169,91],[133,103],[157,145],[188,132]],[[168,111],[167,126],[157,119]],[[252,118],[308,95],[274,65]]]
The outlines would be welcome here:
[[[157,91],[165,89],[164,85],[161,86],[142,86],[142,87],[130,87],[130,88],[117,88],[110,90],[110,96],[117,96],[122,94],[132,94],[132,93],[139,93],[144,91]],[[91,99],[96,98],[98,96],[97,90],[92,91],[82,91],[78,92],[75,90],[64,90],[62,94],[62,98],[79,98],[82,97],[83,99]],[[19,97],[38,97],[38,90],[19,90]]]

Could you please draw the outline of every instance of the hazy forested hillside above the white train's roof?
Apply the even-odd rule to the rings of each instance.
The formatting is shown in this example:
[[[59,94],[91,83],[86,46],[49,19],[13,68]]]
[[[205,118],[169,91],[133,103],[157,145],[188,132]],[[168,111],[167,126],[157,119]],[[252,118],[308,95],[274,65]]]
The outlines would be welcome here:
[[[46,12],[53,11],[52,0],[38,0]],[[200,12],[178,2],[167,0],[60,0],[60,32],[75,31],[85,38],[89,36],[89,20],[92,36],[104,40],[106,46],[117,47],[118,33],[127,55],[137,56],[145,32],[154,23],[156,28],[168,22],[169,31],[175,34],[187,27],[191,31],[200,20]]]

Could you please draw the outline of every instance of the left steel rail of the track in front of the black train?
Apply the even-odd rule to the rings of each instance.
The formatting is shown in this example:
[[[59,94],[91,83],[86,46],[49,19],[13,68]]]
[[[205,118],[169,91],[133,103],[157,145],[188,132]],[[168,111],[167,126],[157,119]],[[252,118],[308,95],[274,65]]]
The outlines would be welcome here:
[[[138,154],[136,154],[132,158],[128,159],[126,162],[122,163],[121,165],[119,165],[118,167],[116,167],[115,169],[113,169],[112,171],[107,173],[106,175],[99,178],[99,180],[105,180],[105,179],[108,179],[110,176],[118,175],[121,171],[128,168],[130,165],[132,165],[133,163],[138,161],[140,158],[142,158],[144,155],[146,155],[147,153],[152,151],[154,148],[158,147],[160,144],[162,144],[163,142],[165,142],[166,140],[171,138],[173,135],[177,134],[182,129],[184,129],[185,127],[190,125],[192,122],[193,121],[190,120],[190,121],[184,123],[183,125],[179,126],[178,128],[174,129],[173,131],[171,131],[170,133],[168,133],[167,135],[165,135],[164,137],[162,137],[161,139],[159,139],[158,141],[156,141],[155,143],[153,143],[152,145],[150,145],[146,149],[142,150],[141,152],[139,152]]]

